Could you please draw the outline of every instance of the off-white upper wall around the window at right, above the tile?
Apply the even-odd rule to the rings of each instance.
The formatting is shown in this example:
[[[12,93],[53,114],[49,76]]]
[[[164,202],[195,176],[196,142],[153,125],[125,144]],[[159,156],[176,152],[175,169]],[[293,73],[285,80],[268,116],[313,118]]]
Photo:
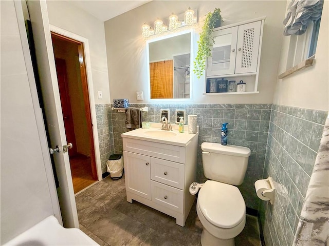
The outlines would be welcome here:
[[[329,3],[324,1],[315,65],[280,79],[277,83],[273,103],[307,109],[329,110],[328,9]],[[286,70],[289,40],[290,36],[283,38],[279,74]]]

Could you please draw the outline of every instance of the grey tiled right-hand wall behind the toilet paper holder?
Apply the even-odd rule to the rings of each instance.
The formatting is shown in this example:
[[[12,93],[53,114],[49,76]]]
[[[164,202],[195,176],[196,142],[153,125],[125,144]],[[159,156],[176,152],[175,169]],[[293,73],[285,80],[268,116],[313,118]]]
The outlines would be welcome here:
[[[267,246],[292,245],[327,112],[273,105],[264,178],[278,183],[275,204],[262,201]]]

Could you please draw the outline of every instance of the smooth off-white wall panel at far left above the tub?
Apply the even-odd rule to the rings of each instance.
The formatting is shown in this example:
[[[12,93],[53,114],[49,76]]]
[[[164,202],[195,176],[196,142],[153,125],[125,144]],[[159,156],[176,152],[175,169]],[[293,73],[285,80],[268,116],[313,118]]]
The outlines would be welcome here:
[[[13,1],[1,1],[1,244],[56,214]],[[22,15],[22,23],[24,20]],[[34,81],[33,81],[34,82]],[[39,112],[40,115],[40,112]],[[45,140],[45,139],[44,139]],[[47,162],[48,161],[48,162]],[[48,165],[48,166],[47,166]],[[49,169],[48,169],[49,170]],[[48,177],[49,178],[49,177]],[[51,182],[52,185],[51,186]],[[53,189],[51,189],[53,188]],[[58,208],[59,209],[59,208]]]

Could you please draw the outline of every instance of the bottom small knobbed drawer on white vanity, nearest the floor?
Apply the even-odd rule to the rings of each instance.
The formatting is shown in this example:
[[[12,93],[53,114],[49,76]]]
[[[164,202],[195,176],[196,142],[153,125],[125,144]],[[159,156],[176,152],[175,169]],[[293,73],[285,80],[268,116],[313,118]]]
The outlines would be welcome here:
[[[184,209],[184,191],[151,180],[152,201],[170,210],[182,213]]]

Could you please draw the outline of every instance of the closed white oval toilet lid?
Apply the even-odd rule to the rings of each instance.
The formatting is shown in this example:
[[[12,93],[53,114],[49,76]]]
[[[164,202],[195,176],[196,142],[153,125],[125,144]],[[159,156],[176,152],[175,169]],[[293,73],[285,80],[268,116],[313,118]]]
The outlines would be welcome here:
[[[246,204],[237,187],[207,180],[197,198],[199,209],[216,227],[233,228],[246,215]]]

